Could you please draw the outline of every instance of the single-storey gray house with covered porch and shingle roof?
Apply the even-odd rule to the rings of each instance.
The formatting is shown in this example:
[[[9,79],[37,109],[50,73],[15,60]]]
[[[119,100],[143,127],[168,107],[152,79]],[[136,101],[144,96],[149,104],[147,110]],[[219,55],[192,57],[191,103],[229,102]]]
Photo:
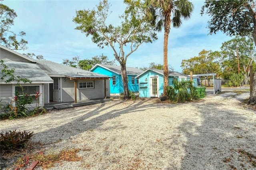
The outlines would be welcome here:
[[[30,95],[41,93],[40,105],[52,102],[78,102],[87,99],[99,99],[110,96],[109,76],[93,73],[46,60],[30,59],[16,51],[0,45],[0,59],[14,74],[29,79],[32,83],[22,84]],[[2,67],[0,72],[2,77]],[[16,82],[5,83],[0,80],[0,100],[12,101]],[[34,104],[36,105],[36,104]]]

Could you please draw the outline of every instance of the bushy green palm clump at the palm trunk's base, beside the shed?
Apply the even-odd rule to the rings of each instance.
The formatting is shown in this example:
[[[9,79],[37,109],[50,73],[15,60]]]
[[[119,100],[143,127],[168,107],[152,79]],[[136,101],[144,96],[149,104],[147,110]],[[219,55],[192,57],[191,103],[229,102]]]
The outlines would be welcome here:
[[[184,102],[192,99],[198,99],[196,88],[193,86],[193,81],[175,79],[173,85],[166,89],[167,97],[170,101]]]

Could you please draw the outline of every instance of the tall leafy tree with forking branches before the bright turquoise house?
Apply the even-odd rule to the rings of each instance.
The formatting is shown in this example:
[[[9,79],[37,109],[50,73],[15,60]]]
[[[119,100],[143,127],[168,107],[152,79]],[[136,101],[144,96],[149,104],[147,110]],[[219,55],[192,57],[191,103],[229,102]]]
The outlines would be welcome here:
[[[144,9],[140,0],[124,0],[126,9],[119,16],[120,25],[116,23],[107,25],[110,16],[110,4],[107,0],[100,1],[92,10],[78,10],[73,21],[78,24],[75,28],[92,37],[92,42],[98,47],[110,46],[114,51],[115,59],[120,63],[124,98],[129,99],[126,61],[142,43],[152,43],[157,39],[152,25],[144,16]]]

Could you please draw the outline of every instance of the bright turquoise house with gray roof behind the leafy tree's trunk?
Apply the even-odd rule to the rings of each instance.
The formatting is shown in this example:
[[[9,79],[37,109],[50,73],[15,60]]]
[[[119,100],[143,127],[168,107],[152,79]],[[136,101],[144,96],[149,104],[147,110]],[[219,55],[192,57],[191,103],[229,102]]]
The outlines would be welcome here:
[[[96,64],[90,71],[112,77],[110,79],[111,95],[119,95],[120,93],[124,93],[124,86],[121,77],[121,66]],[[130,91],[139,91],[139,81],[135,77],[142,72],[142,70],[134,67],[126,67],[126,73],[128,76],[128,88]]]

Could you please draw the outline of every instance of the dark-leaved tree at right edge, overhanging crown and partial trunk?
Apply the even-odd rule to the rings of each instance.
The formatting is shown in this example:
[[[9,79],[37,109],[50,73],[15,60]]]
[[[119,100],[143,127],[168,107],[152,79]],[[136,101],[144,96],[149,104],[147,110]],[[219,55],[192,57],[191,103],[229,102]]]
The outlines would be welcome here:
[[[256,45],[255,0],[206,0],[201,14],[208,14],[210,34],[222,31],[229,36],[252,35]],[[256,105],[256,71],[248,104]]]

